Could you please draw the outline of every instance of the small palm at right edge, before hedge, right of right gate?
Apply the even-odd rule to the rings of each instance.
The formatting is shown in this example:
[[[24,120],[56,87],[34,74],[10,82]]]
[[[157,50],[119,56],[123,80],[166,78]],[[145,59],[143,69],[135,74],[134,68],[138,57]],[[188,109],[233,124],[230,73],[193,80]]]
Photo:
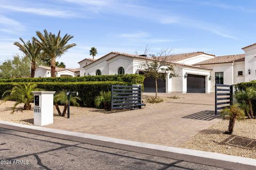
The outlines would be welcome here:
[[[252,100],[256,99],[256,88],[255,87],[249,87],[245,90],[239,90],[235,94],[235,98],[237,99],[237,102],[241,105],[247,104],[249,107],[247,116],[248,118],[256,118],[256,116],[253,114],[253,108],[252,108]],[[243,108],[246,108],[246,106],[243,106]],[[245,113],[247,112],[245,111]]]

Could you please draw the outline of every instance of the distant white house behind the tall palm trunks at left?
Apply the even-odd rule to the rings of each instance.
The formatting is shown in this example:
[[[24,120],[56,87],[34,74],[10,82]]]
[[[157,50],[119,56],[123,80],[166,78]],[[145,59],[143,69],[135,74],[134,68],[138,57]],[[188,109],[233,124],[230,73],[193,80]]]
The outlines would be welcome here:
[[[56,67],[56,77],[77,77],[79,76],[80,69],[65,69]],[[51,67],[49,66],[38,66],[35,71],[35,78],[49,78],[51,77]]]

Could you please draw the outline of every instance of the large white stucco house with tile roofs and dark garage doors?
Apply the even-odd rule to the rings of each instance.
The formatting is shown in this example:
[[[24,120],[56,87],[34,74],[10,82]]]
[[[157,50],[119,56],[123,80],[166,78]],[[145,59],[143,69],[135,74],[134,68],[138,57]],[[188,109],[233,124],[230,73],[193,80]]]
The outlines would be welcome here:
[[[179,77],[158,80],[159,92],[214,92],[215,83],[236,84],[256,79],[256,44],[242,48],[244,54],[215,56],[204,52],[167,56]],[[80,75],[143,74],[142,63],[153,60],[143,55],[108,53],[97,60],[79,62]],[[155,91],[152,78],[144,81],[145,92]]]

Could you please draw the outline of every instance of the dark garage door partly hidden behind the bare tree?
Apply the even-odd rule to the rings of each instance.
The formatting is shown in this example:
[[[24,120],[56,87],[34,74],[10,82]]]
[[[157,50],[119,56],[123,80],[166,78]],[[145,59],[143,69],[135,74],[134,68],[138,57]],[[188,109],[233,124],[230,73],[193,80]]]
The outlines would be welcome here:
[[[165,92],[165,79],[157,80],[157,91]],[[147,77],[144,80],[144,92],[156,92],[156,82],[153,77]]]

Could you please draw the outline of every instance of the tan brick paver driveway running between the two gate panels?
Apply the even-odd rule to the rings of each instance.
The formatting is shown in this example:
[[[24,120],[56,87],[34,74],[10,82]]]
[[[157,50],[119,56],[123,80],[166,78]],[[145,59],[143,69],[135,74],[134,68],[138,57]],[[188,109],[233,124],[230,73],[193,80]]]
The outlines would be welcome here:
[[[178,95],[181,98],[135,111],[67,119],[46,127],[179,146],[221,120],[214,116],[214,94],[160,95]]]

